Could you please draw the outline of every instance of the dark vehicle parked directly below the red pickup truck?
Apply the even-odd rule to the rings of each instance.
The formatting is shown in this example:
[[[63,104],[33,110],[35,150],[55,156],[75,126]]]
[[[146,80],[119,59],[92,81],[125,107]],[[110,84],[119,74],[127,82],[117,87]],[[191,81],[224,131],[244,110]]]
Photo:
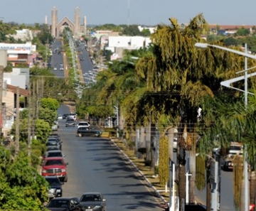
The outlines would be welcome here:
[[[56,197],[62,197],[63,189],[62,189],[62,184],[60,182],[60,179],[56,176],[46,176],[46,181],[50,185],[50,189],[47,191],[48,197],[51,198],[56,198]]]

